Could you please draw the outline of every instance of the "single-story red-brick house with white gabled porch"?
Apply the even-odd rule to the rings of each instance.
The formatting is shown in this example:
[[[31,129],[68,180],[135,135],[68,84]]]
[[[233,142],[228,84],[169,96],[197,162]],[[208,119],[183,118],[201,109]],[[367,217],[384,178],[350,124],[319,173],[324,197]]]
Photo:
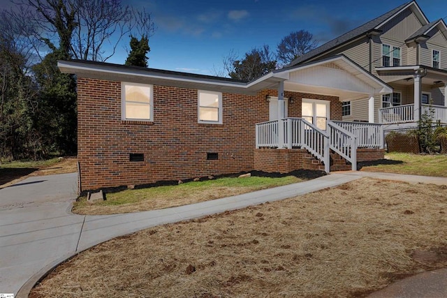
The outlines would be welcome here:
[[[93,61],[58,66],[77,75],[81,192],[250,170],[329,172],[383,157],[380,126],[339,121],[342,100],[392,89],[343,55],[248,83]]]

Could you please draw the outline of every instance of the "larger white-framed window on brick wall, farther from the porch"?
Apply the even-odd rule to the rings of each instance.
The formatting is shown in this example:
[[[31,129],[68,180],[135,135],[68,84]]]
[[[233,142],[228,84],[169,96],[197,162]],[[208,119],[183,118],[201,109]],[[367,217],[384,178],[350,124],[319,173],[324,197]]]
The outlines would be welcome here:
[[[152,85],[122,82],[122,119],[153,121]]]

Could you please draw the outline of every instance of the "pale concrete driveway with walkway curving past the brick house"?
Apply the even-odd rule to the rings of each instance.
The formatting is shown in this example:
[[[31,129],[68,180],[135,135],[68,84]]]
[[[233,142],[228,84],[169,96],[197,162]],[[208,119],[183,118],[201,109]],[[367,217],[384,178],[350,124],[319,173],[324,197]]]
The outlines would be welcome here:
[[[437,184],[447,185],[447,179],[434,177],[337,172],[299,184],[181,207],[135,214],[78,216],[69,211],[75,199],[76,188],[73,188],[76,181],[75,174],[25,179],[16,186],[0,190],[0,293],[15,293],[16,297],[27,297],[38,279],[59,262],[114,237],[165,223],[175,223],[263,202],[284,200],[362,177],[414,183],[436,181]],[[59,195],[51,195],[54,194],[54,190],[45,186],[45,183],[65,191],[59,189],[56,192]],[[34,191],[36,184],[40,191]],[[47,189],[47,194],[44,189]],[[60,198],[61,195],[65,195],[65,198]],[[12,202],[11,198],[17,199]]]

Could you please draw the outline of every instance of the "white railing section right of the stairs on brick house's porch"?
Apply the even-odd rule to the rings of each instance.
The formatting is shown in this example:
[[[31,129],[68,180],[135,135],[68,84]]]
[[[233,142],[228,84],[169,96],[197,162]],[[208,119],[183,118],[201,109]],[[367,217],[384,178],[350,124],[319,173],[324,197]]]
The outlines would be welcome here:
[[[356,136],[358,148],[383,149],[383,125],[366,122],[332,121]]]

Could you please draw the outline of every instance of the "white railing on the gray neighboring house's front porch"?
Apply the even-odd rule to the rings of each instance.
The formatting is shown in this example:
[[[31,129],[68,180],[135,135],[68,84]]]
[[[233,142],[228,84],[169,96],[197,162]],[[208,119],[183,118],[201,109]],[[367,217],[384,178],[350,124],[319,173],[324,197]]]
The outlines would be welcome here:
[[[441,121],[447,123],[447,107],[442,105],[422,105],[421,114],[427,112],[430,113],[430,107],[432,107],[433,121]],[[414,105],[399,105],[397,107],[383,107],[379,109],[379,122],[381,124],[397,124],[415,122],[414,120]]]

